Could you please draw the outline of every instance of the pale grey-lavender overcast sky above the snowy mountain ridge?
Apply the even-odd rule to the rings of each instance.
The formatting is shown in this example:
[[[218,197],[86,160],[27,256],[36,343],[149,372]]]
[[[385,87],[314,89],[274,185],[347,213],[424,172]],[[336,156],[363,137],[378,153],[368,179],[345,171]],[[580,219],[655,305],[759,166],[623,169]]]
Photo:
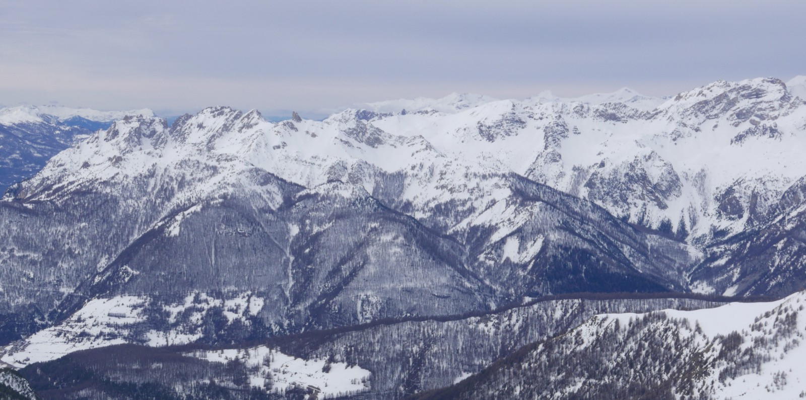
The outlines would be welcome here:
[[[522,99],[806,75],[803,0],[4,0],[0,105],[210,105],[316,118],[448,93]]]

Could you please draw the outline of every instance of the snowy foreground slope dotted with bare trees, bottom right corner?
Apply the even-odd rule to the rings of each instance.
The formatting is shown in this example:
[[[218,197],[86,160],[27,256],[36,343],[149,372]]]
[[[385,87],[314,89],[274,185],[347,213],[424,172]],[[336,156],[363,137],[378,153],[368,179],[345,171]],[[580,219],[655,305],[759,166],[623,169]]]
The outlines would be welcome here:
[[[422,398],[801,398],[804,305],[597,315]]]

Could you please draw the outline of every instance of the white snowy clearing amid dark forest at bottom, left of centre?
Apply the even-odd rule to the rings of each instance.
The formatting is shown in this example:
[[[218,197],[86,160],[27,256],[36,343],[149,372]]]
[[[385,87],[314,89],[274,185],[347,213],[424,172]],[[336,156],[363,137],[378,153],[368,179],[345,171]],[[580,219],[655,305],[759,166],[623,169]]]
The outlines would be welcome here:
[[[190,356],[213,362],[240,361],[251,372],[251,386],[263,388],[264,382],[272,381],[272,391],[281,392],[293,386],[319,390],[322,396],[355,394],[369,388],[371,373],[358,366],[343,362],[305,360],[292,357],[266,346],[230,348],[207,352],[189,353]],[[330,369],[326,370],[326,365]]]

